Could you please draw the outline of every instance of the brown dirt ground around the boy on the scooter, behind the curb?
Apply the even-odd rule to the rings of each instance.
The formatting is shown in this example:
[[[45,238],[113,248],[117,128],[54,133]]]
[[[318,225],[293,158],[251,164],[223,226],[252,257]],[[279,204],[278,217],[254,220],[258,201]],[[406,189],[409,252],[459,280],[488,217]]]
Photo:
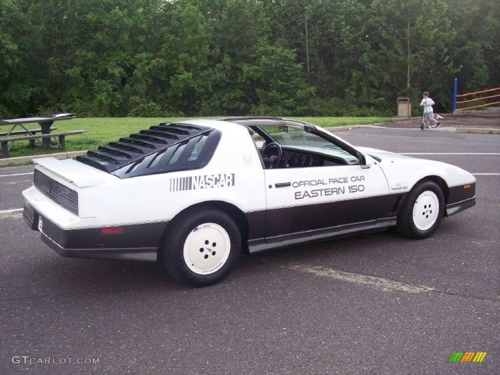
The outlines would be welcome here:
[[[441,127],[475,127],[475,128],[500,128],[500,116],[476,116],[465,114],[440,114],[444,118],[439,120]],[[395,119],[381,124],[385,127],[419,128],[422,117]]]

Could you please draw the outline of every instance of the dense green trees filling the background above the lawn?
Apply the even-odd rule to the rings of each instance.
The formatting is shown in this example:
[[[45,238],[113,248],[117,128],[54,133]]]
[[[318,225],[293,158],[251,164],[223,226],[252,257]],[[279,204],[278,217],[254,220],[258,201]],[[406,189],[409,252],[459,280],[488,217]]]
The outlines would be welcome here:
[[[500,86],[490,0],[0,0],[0,118],[395,114]]]

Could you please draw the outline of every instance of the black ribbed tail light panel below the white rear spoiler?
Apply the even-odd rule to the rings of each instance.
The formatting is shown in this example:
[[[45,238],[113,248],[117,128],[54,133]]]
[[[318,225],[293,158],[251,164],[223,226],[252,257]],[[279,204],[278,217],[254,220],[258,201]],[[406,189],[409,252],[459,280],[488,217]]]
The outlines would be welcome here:
[[[38,169],[34,170],[33,184],[50,199],[78,215],[78,193],[64,186]]]

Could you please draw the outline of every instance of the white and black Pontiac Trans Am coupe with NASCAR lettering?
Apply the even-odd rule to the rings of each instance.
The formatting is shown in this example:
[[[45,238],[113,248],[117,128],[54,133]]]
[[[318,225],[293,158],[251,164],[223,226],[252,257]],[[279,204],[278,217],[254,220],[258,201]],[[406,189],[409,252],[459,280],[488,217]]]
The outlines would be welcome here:
[[[206,286],[250,253],[395,227],[430,236],[475,204],[454,165],[355,147],[276,117],[160,123],[35,160],[23,217],[62,256],[160,261]]]

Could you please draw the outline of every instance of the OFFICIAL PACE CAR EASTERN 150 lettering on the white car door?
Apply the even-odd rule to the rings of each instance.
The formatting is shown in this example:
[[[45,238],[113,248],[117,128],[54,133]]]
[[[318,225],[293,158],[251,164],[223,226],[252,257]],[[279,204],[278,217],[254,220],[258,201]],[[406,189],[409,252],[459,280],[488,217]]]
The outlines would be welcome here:
[[[348,184],[349,182],[364,182],[364,176],[317,178],[292,182],[293,187],[311,187],[293,193],[295,199],[315,198],[341,194],[353,194],[364,191],[363,183]],[[331,186],[334,185],[334,186]],[[337,186],[338,185],[338,186]]]

